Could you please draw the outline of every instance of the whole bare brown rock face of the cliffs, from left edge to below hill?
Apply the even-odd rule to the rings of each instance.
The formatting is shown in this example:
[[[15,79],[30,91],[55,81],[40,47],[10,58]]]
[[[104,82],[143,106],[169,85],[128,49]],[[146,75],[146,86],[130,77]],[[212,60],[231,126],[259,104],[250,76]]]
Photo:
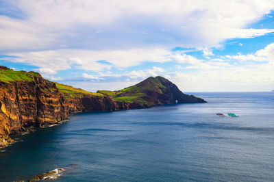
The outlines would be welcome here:
[[[56,88],[55,83],[40,75],[27,76],[30,79],[0,81],[0,148],[14,142],[10,134],[56,124],[76,112],[147,107],[113,101],[106,96],[68,98]]]

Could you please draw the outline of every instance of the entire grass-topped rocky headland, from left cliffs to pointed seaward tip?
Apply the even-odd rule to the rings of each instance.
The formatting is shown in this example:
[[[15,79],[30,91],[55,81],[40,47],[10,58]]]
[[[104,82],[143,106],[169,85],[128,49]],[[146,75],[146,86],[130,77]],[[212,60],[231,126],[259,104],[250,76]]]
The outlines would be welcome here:
[[[152,107],[163,103],[205,102],[183,94],[163,77],[150,77],[116,92],[87,92],[43,79],[39,73],[0,66],[0,148],[11,134],[62,122],[71,114]]]

